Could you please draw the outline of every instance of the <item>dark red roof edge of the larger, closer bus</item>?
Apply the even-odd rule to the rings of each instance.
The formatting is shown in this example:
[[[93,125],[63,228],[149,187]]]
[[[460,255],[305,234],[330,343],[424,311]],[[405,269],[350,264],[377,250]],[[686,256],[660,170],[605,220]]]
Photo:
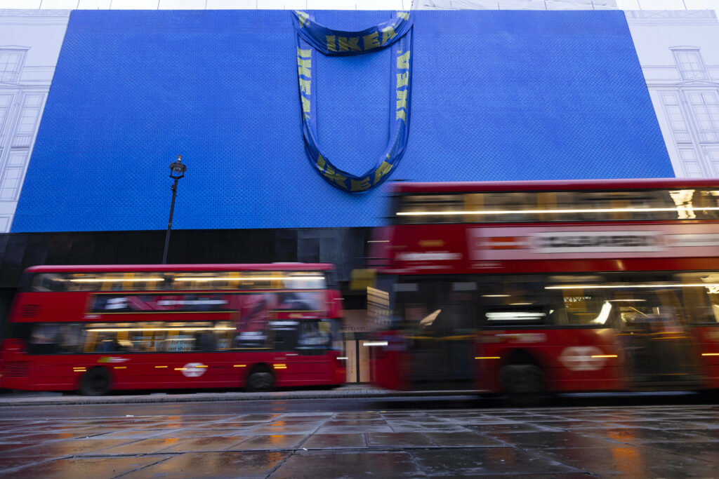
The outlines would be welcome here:
[[[632,178],[623,180],[542,180],[495,182],[393,182],[392,192],[490,192],[555,190],[651,190],[655,188],[719,188],[718,179]]]

